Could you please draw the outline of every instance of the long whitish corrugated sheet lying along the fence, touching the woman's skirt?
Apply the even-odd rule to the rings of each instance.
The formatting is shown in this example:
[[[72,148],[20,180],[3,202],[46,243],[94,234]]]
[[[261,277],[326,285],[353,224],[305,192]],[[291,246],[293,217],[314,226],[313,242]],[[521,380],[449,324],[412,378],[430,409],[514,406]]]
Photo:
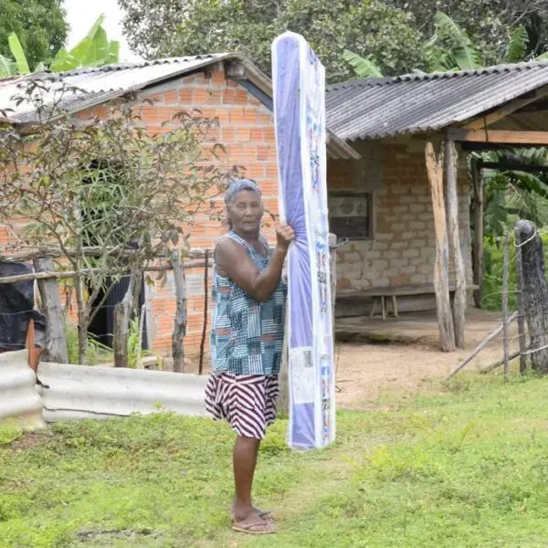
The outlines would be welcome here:
[[[207,376],[47,363],[39,365],[37,376],[47,422],[161,410],[205,415]]]

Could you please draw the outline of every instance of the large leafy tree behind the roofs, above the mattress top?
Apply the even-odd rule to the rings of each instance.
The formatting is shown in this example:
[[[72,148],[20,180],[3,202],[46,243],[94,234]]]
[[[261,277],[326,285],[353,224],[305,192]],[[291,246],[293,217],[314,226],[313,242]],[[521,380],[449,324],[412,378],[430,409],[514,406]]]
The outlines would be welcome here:
[[[130,46],[147,57],[242,51],[265,72],[270,45],[285,30],[311,43],[331,81],[348,79],[345,48],[378,59],[390,74],[419,66],[413,16],[381,0],[119,0]]]

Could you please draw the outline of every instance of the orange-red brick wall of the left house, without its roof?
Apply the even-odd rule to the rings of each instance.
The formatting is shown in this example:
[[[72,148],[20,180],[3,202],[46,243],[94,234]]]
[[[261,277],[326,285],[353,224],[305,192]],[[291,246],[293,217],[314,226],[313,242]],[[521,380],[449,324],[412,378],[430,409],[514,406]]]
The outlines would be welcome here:
[[[211,78],[198,74],[178,79],[169,85],[143,93],[140,99],[154,100],[153,105],[144,105],[141,108],[142,121],[152,133],[161,131],[163,121],[171,119],[175,113],[182,110],[198,109],[205,116],[218,118],[220,127],[212,134],[212,142],[221,142],[227,148],[223,162],[227,166],[241,165],[245,169],[245,174],[260,185],[265,208],[277,215],[278,166],[272,115],[258,99],[248,93],[248,90],[226,79],[222,67],[217,67]],[[222,207],[222,204],[220,206]],[[265,221],[269,223],[268,214]],[[213,249],[218,237],[226,230],[226,227],[212,221],[208,215],[197,216],[192,227],[191,247]],[[271,227],[265,227],[265,230],[271,236]],[[204,260],[197,262],[203,264]],[[211,274],[211,269],[209,273]],[[188,328],[185,351],[189,358],[195,358],[199,353],[204,325],[203,267],[188,269],[186,283]],[[210,289],[211,276],[207,285]],[[168,283],[163,288],[156,284],[147,292],[151,299],[148,327],[153,339],[153,348],[160,352],[169,352],[175,307],[171,273],[168,273]],[[208,319],[211,321],[211,309],[208,311]],[[208,330],[209,324],[205,345],[207,352]],[[205,364],[208,366],[207,360]]]

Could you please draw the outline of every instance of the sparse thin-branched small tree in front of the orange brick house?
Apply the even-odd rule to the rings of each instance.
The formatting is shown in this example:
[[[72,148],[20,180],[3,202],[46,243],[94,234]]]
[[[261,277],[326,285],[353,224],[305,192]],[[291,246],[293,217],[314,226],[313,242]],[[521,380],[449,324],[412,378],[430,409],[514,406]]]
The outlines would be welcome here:
[[[195,214],[210,210],[208,196],[230,172],[214,157],[216,121],[181,112],[150,135],[133,100],[75,124],[62,105],[77,91],[62,80],[31,79],[14,99],[30,103],[40,123],[27,136],[0,126],[0,219],[8,227],[28,219],[24,229],[14,229],[19,244],[45,249],[76,272],[79,363],[85,364],[88,327],[106,280],[129,272],[139,290],[150,261],[172,247],[184,250]],[[131,310],[123,310],[126,326]],[[115,343],[127,358],[125,333],[126,342]]]

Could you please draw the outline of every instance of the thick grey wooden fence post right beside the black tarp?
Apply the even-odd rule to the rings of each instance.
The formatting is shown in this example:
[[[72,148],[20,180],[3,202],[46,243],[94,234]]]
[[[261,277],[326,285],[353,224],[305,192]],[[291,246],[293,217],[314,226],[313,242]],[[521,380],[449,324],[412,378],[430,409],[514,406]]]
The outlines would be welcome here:
[[[35,258],[33,262],[37,272],[47,272],[54,268],[51,258]],[[46,316],[46,348],[42,359],[57,364],[68,364],[65,318],[57,281],[55,279],[38,280],[38,291]]]

